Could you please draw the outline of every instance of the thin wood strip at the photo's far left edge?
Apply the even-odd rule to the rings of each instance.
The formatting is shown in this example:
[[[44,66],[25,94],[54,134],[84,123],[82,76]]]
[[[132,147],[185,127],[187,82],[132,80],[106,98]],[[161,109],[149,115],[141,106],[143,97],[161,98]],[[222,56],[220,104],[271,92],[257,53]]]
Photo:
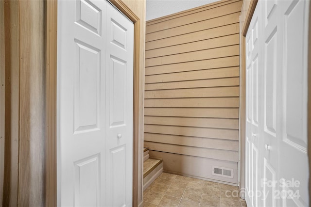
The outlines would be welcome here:
[[[4,173],[4,97],[5,97],[5,55],[4,55],[4,10],[3,0],[0,0],[0,206],[3,197],[3,173]]]

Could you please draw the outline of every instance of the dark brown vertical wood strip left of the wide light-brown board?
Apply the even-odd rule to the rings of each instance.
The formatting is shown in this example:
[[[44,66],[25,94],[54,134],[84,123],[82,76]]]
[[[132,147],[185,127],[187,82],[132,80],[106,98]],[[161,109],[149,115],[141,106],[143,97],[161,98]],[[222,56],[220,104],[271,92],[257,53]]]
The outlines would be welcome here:
[[[17,206],[19,139],[19,1],[3,1],[5,47],[5,132],[3,206]]]

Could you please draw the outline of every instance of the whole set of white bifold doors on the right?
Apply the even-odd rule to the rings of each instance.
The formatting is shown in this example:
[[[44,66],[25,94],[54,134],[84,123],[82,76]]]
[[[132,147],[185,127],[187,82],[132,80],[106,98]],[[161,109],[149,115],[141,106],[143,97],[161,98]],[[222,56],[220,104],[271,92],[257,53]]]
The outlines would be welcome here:
[[[309,204],[309,3],[305,0],[259,0],[246,34],[245,181],[248,206]],[[256,22],[257,45],[252,44]],[[258,72],[253,64],[254,57],[258,60]],[[258,74],[257,80],[254,80],[254,73]],[[256,86],[257,91],[254,90]],[[256,105],[259,111],[257,128],[254,127]]]

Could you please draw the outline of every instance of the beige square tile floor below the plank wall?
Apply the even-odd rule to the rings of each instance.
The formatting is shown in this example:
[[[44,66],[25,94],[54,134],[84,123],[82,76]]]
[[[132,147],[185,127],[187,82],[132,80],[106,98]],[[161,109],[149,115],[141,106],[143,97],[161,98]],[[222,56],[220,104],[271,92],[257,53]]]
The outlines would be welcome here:
[[[246,207],[237,193],[235,186],[162,173],[143,200],[144,207]]]

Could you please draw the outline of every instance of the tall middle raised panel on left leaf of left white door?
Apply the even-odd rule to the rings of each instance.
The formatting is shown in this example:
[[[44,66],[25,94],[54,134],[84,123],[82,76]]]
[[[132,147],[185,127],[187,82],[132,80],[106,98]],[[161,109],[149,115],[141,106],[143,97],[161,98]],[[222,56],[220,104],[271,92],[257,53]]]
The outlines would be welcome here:
[[[99,129],[101,50],[75,40],[74,133]]]

